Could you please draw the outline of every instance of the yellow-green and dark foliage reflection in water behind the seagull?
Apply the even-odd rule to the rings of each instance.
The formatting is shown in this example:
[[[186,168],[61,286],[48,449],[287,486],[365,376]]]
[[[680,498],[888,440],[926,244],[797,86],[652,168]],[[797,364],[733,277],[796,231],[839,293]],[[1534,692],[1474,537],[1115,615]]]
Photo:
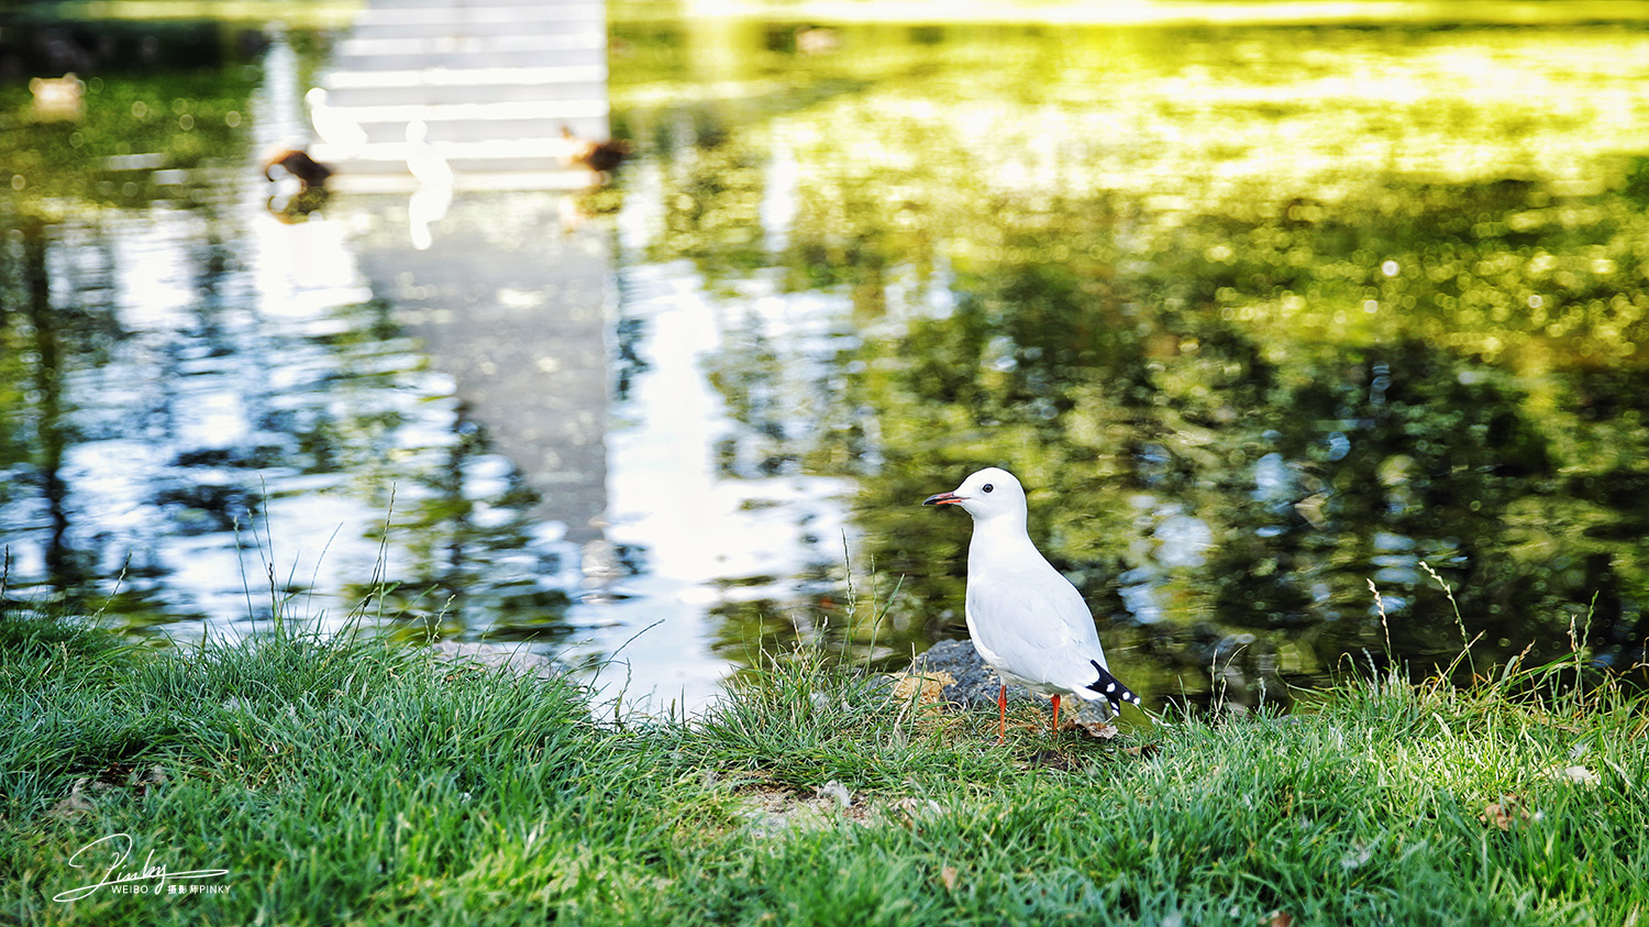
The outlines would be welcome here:
[[[826,360],[854,373],[768,429],[874,477],[897,627],[960,625],[966,528],[914,501],[1004,464],[1108,635],[1166,658],[1159,689],[1232,642],[1285,675],[1379,648],[1369,577],[1398,650],[1448,660],[1421,562],[1479,652],[1562,650],[1593,600],[1603,660],[1641,647],[1644,33],[915,38],[844,30],[803,59],[689,33],[719,82],[676,102],[721,122],[666,168],[653,242],[734,299],[777,264],[851,305],[861,340]],[[866,81],[820,92],[839,73]],[[656,86],[630,89],[640,134],[674,112]],[[780,170],[788,228],[763,241]],[[796,376],[759,325],[714,361],[757,419]]]

